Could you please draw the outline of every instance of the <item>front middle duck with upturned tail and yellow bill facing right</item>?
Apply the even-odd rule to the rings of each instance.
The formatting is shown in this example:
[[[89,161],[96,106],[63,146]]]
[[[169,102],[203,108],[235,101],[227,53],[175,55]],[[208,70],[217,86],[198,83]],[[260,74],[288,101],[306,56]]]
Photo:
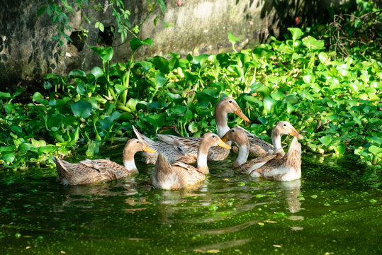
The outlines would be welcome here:
[[[181,161],[170,164],[163,153],[159,152],[150,183],[154,188],[164,190],[179,190],[181,188],[192,188],[206,179],[209,173],[207,166],[208,149],[213,146],[230,149],[218,135],[211,132],[201,138],[198,145],[198,167],[191,166]]]

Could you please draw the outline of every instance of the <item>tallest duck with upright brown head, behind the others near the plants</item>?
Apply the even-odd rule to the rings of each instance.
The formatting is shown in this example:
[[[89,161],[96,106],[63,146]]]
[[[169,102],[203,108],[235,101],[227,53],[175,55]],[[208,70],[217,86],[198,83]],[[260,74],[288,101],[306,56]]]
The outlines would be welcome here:
[[[235,99],[230,97],[222,98],[215,106],[215,123],[218,136],[223,137],[225,133],[230,130],[227,124],[227,114],[235,113],[242,120],[249,122],[249,118],[242,113],[240,106]],[[191,159],[188,163],[196,162],[198,154],[198,145],[201,142],[201,137],[178,137],[175,135],[157,135],[158,139],[162,142],[166,142],[169,145],[180,149],[182,152],[188,155]],[[230,143],[228,144],[230,145]],[[227,158],[230,154],[230,150],[224,147],[212,147],[208,152],[208,160],[219,161]]]

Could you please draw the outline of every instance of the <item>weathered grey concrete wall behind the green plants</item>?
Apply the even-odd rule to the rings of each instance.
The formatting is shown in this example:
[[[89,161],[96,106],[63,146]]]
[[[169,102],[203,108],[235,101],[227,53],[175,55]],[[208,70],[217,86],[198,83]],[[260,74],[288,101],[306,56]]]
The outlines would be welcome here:
[[[92,9],[82,13],[77,10],[69,15],[69,25],[73,31],[80,23],[89,30],[84,47],[66,45],[57,47],[51,37],[57,34],[57,28],[46,13],[37,17],[36,13],[43,1],[0,0],[0,91],[6,90],[20,81],[40,82],[50,72],[68,73],[72,69],[89,70],[101,65],[99,57],[86,45],[97,45],[99,30],[82,23],[82,17],[94,16],[105,26],[115,26],[111,9],[106,13]],[[103,2],[103,1],[101,1]],[[140,23],[147,13],[147,1],[126,0],[125,8],[131,12],[129,21],[133,26]],[[231,49],[227,32],[232,33],[241,42],[237,48],[252,46],[266,41],[270,35],[276,37],[288,26],[296,26],[296,17],[300,23],[325,21],[325,9],[338,1],[264,1],[264,0],[184,0],[181,6],[175,0],[166,1],[167,7],[163,20],[174,23],[165,28],[162,21],[154,26],[153,20],[161,16],[159,9],[152,13],[140,28],[140,38],[152,38],[153,47],[141,47],[135,54],[135,60],[153,55],[167,57],[168,52],[181,55],[189,53],[217,53]],[[130,60],[130,45],[121,44],[119,35],[110,43],[114,48],[113,62]],[[128,38],[130,40],[130,38]]]

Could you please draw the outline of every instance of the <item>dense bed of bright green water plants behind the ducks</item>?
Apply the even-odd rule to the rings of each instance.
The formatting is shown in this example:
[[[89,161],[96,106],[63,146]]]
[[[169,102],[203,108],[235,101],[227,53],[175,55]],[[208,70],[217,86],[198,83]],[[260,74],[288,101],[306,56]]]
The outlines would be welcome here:
[[[232,53],[187,55],[169,59],[113,63],[111,47],[91,47],[102,67],[72,70],[67,77],[48,74],[48,96],[33,95],[26,105],[12,103],[20,94],[0,93],[0,159],[5,167],[23,168],[51,160],[50,154],[73,149],[88,156],[106,143],[133,137],[132,125],[146,135],[168,127],[198,137],[215,130],[213,108],[222,96],[236,98],[251,123],[230,125],[269,141],[271,129],[288,120],[303,130],[308,152],[356,154],[381,167],[382,63],[350,53],[342,59],[325,51],[325,42],[289,28],[284,41]],[[152,41],[130,40],[135,52]],[[368,50],[377,50],[373,43]],[[232,118],[232,117],[230,117]],[[267,134],[267,135],[266,135]],[[337,157],[337,156],[336,156]]]

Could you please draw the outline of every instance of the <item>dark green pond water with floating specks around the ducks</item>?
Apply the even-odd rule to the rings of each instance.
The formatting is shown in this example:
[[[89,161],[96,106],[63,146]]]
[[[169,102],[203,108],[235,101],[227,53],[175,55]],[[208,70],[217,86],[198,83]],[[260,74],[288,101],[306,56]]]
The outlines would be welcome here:
[[[353,159],[303,154],[291,182],[215,162],[197,191],[152,190],[135,159],[139,175],[83,186],[0,172],[0,254],[382,254],[380,172]]]

